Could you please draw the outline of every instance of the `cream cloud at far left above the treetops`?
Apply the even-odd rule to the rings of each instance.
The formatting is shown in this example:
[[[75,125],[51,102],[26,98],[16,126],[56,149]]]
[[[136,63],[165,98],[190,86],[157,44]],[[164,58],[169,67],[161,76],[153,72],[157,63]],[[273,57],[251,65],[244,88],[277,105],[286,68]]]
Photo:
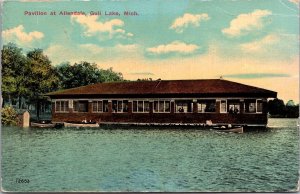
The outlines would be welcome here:
[[[14,42],[18,45],[29,45],[36,40],[40,40],[44,37],[42,32],[33,31],[26,33],[24,26],[19,25],[18,27],[4,30],[2,32],[4,42]]]

